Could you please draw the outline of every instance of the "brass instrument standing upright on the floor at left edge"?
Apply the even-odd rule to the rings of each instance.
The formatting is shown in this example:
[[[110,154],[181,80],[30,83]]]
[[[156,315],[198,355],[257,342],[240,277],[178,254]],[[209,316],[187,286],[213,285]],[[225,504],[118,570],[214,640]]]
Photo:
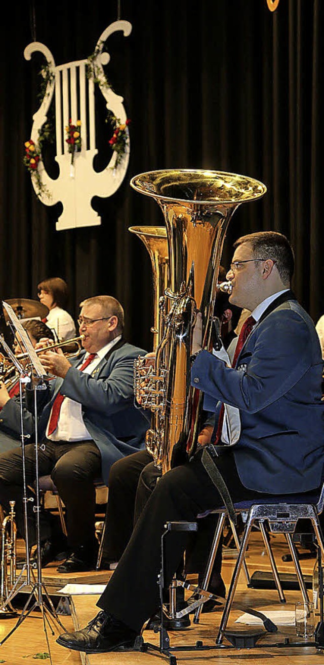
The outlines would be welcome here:
[[[1,527],[1,588],[0,617],[9,618],[17,612],[13,608],[9,596],[9,585],[12,589],[16,581],[16,542],[17,526],[15,523],[15,501],[9,501],[10,513],[3,519]],[[8,565],[10,571],[8,574]]]

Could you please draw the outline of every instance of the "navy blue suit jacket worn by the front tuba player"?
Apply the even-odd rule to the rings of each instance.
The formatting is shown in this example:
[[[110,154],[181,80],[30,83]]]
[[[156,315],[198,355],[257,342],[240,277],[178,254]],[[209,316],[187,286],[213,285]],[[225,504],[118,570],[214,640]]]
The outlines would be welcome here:
[[[240,410],[240,440],[230,450],[245,487],[278,494],[321,484],[322,371],[313,321],[291,291],[262,315],[235,368],[205,350],[197,356],[191,383],[205,393],[204,408],[216,417],[220,402]]]

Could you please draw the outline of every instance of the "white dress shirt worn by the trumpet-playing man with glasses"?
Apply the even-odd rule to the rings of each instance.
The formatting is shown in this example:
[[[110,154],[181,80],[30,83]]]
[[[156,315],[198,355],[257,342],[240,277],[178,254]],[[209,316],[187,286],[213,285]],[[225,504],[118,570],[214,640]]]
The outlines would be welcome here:
[[[84,374],[92,374],[96,369],[96,366],[101,362],[101,360],[106,356],[108,351],[117,344],[121,339],[121,334],[118,337],[115,337],[111,342],[108,342],[106,346],[100,348],[96,353],[96,358],[88,364],[82,372]],[[82,366],[90,354],[87,352],[82,357],[82,361],[79,363],[79,366]],[[78,369],[78,367],[76,367]],[[52,414],[52,412],[50,412]],[[70,400],[69,397],[65,397],[60,408],[60,415],[58,416],[58,424],[56,430],[48,436],[48,425],[50,423],[50,417],[48,418],[48,424],[46,427],[46,438],[50,441],[85,441],[91,439],[91,436],[83,422],[82,418],[82,404],[80,402],[75,402]]]

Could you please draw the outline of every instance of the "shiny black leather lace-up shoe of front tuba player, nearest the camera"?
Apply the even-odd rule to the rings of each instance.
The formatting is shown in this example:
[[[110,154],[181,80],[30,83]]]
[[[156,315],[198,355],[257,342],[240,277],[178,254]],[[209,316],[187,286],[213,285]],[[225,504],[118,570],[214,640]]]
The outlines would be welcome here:
[[[74,651],[86,654],[104,654],[108,651],[131,649],[137,632],[125,626],[108,612],[99,612],[86,628],[64,632],[56,642]]]

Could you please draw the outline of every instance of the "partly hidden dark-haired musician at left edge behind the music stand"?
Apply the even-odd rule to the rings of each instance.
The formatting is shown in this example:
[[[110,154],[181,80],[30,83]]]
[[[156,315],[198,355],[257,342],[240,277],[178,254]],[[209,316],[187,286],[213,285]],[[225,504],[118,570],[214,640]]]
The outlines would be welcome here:
[[[22,323],[29,335],[31,343],[35,347],[42,337],[47,337],[54,342],[54,334],[42,321],[30,319]],[[17,356],[25,352],[25,347],[20,339],[19,333],[13,342],[13,350]],[[24,363],[23,360],[20,361]],[[10,386],[4,381],[0,382],[0,452],[16,448],[21,440],[21,411],[19,400],[19,376],[17,372],[10,381]],[[24,432],[31,434],[34,430],[32,414],[24,408]]]

